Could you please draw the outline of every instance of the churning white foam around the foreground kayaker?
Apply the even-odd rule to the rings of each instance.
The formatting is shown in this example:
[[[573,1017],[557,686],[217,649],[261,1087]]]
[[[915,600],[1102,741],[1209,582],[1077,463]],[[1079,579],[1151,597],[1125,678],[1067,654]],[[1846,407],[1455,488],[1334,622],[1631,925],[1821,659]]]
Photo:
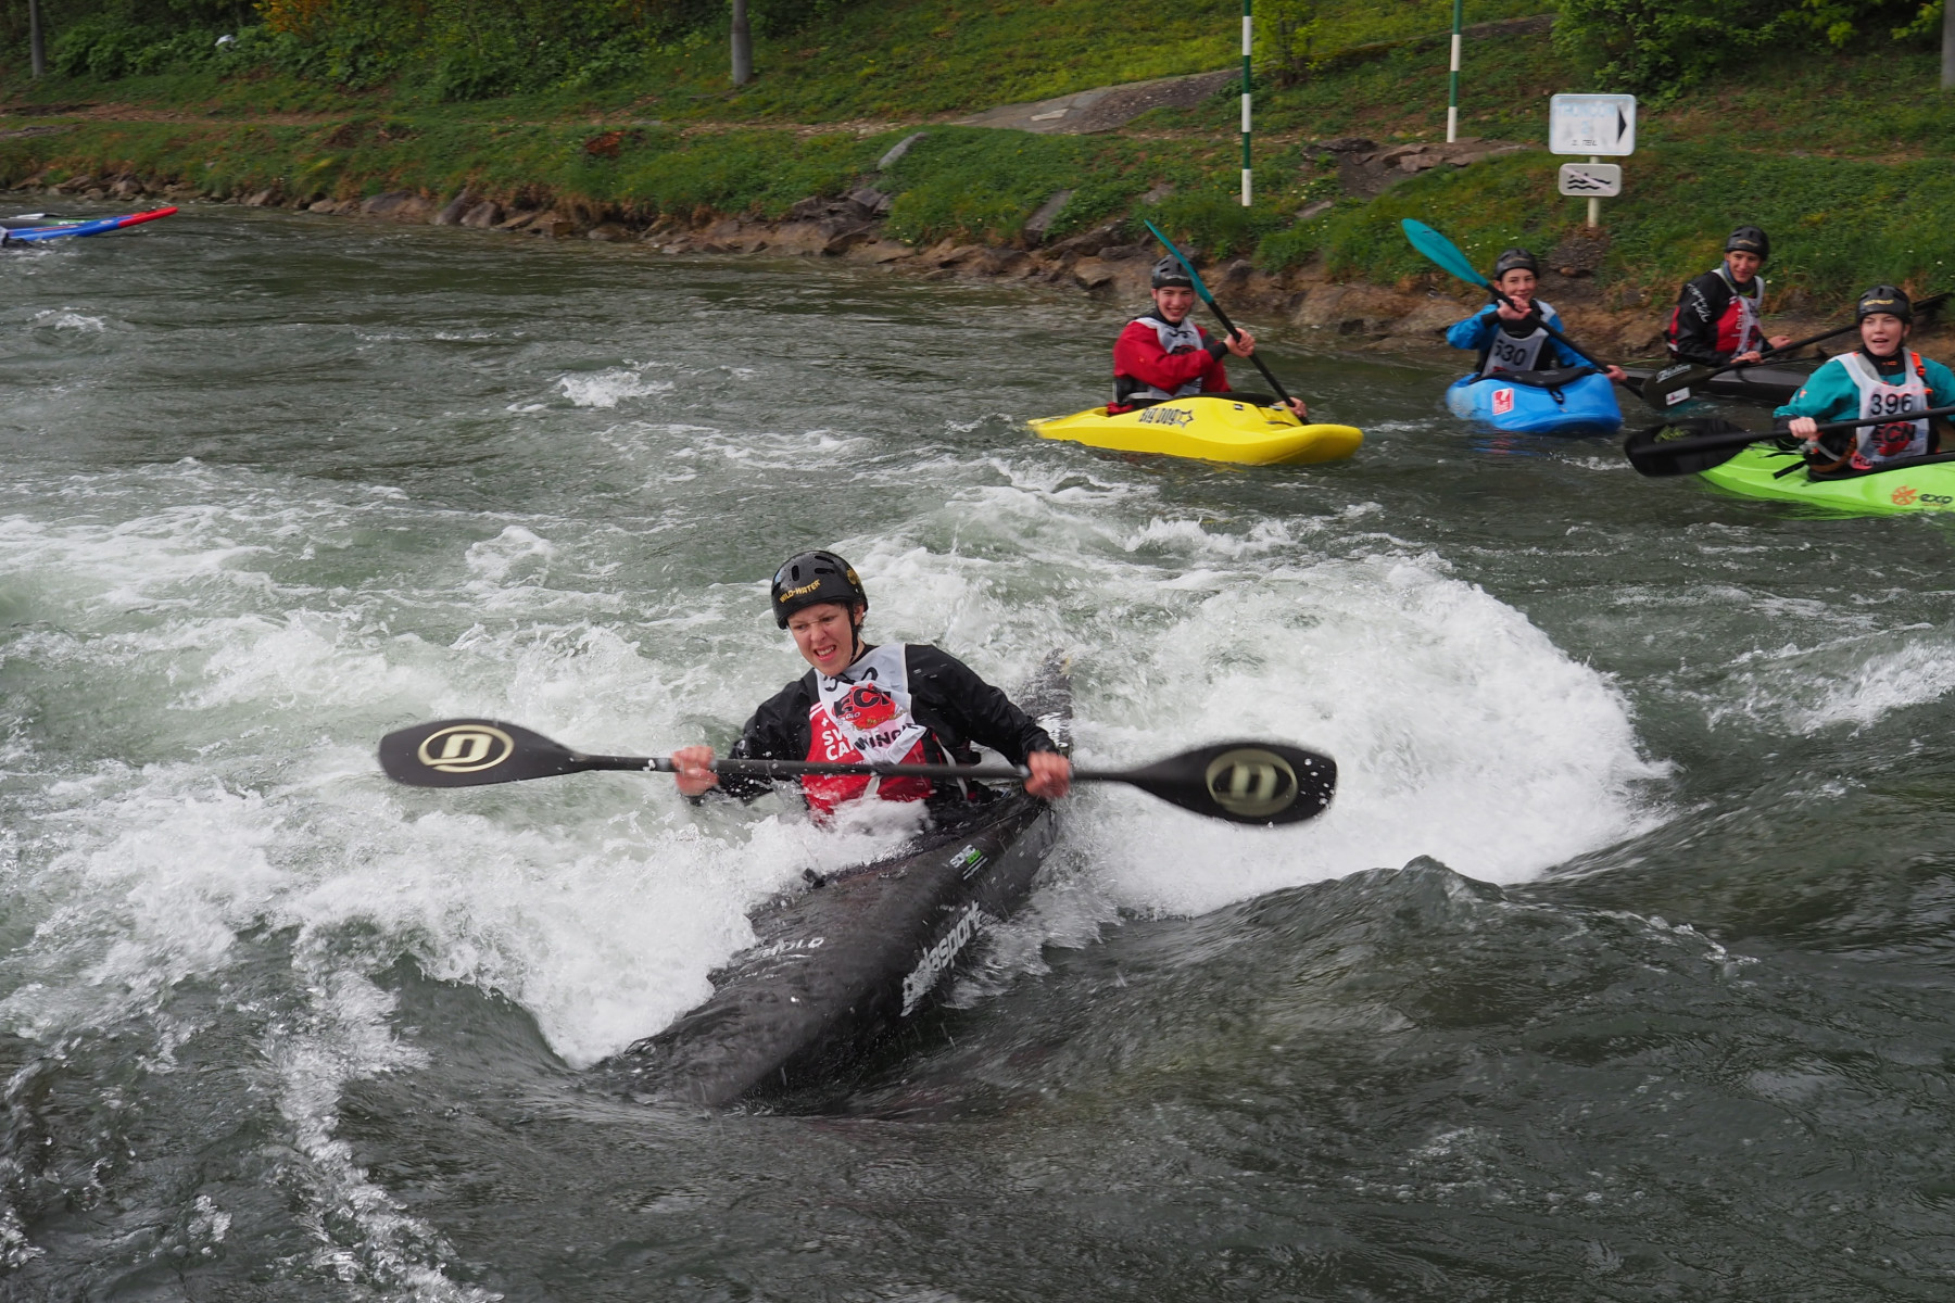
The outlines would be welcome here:
[[[741,475],[798,445],[804,467],[841,465],[858,440],[694,441]],[[1249,735],[1343,770],[1329,815],[1292,830],[1083,789],[1064,862],[1087,867],[1026,916],[1044,936],[1091,936],[1112,906],[1206,910],[1421,854],[1513,881],[1642,819],[1634,787],[1658,770],[1615,688],[1441,559],[1363,533],[1370,504],[1232,524],[1030,455],[913,473],[931,477],[966,486],[876,535],[819,539],[864,572],[872,637],[940,643],[1007,686],[1048,649],[1075,651],[1081,762]],[[804,668],[757,619],[764,574],[702,565],[692,586],[643,592],[643,541],[622,529],[463,520],[196,463],[29,500],[55,508],[0,520],[0,580],[47,627],[12,639],[10,662],[141,684],[123,727],[156,758],[70,756],[22,807],[31,858],[10,869],[10,901],[39,930],[0,957],[0,1024],[51,1039],[162,1022],[172,985],[289,938],[303,1018],[264,1059],[334,1278],[471,1297],[334,1133],[348,1082],[418,1063],[377,985],[401,955],[508,996],[583,1067],[704,998],[751,944],[757,903],[901,834],[823,832],[780,799],[692,811],[657,776],[418,791],[377,774],[381,733],[450,715],[592,752],[727,742]],[[424,531],[440,555],[407,572],[366,561],[348,541],[362,529]],[[336,578],[293,568],[311,547],[344,549]],[[1009,963],[1036,965],[1036,936],[1015,936]],[[352,1240],[330,1231],[348,1219]]]

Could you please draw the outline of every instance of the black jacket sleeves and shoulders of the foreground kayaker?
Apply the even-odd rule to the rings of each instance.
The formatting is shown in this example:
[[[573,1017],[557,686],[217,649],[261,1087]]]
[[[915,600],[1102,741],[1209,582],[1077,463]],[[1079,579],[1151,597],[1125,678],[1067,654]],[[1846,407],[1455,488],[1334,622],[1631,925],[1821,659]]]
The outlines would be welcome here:
[[[872,645],[864,645],[868,654]],[[1052,736],[1030,715],[1011,703],[1003,692],[946,651],[929,643],[907,643],[903,662],[909,670],[909,713],[931,731],[923,748],[931,764],[978,764],[972,742],[989,746],[1011,764],[1024,764],[1034,750],[1058,750]],[[815,674],[809,670],[794,680],[753,713],[729,758],[735,760],[807,760],[813,725],[807,715],[819,699]],[[978,789],[976,783],[970,787]],[[717,791],[741,801],[772,791],[774,779],[749,774],[721,774]],[[983,799],[983,797],[979,797]],[[931,805],[962,803],[950,785],[938,783]]]

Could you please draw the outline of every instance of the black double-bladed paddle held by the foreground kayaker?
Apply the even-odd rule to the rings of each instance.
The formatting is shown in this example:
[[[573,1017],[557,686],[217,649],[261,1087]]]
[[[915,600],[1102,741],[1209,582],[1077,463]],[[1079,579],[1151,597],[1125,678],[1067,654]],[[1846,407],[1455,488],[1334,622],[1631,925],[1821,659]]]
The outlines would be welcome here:
[[[630,770],[673,774],[669,756],[585,756],[561,742],[499,719],[440,719],[379,740],[379,768],[411,787],[481,787],[526,778]],[[1024,766],[821,764],[809,760],[714,760],[714,774],[796,778],[874,774],[880,778],[1030,776]],[[1212,742],[1142,770],[1073,770],[1075,783],[1128,783],[1169,805],[1238,824],[1292,824],[1316,819],[1337,789],[1337,762],[1282,742]]]

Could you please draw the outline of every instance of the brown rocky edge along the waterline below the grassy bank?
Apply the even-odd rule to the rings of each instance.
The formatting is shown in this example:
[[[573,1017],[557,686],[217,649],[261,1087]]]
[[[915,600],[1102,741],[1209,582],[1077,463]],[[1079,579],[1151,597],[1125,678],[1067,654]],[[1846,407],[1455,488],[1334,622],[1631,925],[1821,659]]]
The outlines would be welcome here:
[[[1367,189],[1370,174],[1410,174],[1451,160],[1451,152],[1486,156],[1507,148],[1498,143],[1462,141],[1458,147],[1400,147],[1376,150],[1368,141],[1324,145],[1351,189]],[[1455,164],[1458,166],[1458,164]],[[76,176],[47,184],[27,178],[16,193],[72,195],[78,199],[162,199],[168,203],[219,201],[248,207],[356,217],[366,221],[469,227],[491,236],[586,238],[639,244],[659,254],[764,254],[829,258],[905,272],[931,279],[978,279],[999,283],[1038,283],[1085,291],[1122,303],[1144,303],[1148,272],[1159,258],[1153,244],[1136,244],[1118,225],[1046,242],[1044,227],[1064,207],[1064,191],[1026,225],[1017,246],[960,244],[944,240],[917,248],[891,238],[884,219],[891,197],[874,188],[835,197],[807,197],[780,221],[725,217],[698,211],[684,217],[659,215],[639,221],[616,209],[592,209],[547,195],[487,195],[461,191],[436,197],[395,189],[368,199],[307,199],[260,189],[256,193],[213,193],[180,182],[154,182],[133,174]],[[1548,254],[1542,297],[1560,311],[1570,334],[1615,357],[1648,357],[1660,352],[1668,303],[1605,303],[1595,289],[1593,270],[1601,266],[1607,236],[1570,238]],[[1345,350],[1410,352],[1439,346],[1449,324],[1484,303],[1451,281],[1449,293],[1429,283],[1367,285],[1333,279],[1322,264],[1265,272],[1249,260],[1236,260],[1204,273],[1210,289],[1245,322],[1286,320],[1290,326],[1335,340]],[[1431,281],[1443,277],[1433,275]],[[1779,322],[1773,322],[1775,328]],[[1801,322],[1785,322],[1799,328]]]

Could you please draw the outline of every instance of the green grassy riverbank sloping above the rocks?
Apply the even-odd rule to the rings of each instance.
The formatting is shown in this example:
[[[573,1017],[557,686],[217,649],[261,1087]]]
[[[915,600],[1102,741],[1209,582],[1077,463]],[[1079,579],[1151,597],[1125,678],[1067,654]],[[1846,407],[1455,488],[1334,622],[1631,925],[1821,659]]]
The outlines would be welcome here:
[[[1367,20],[1351,4],[1333,12],[1343,27],[1320,39],[1419,35],[1431,25],[1423,8]],[[1251,209],[1236,203],[1232,94],[1093,137],[944,121],[1107,80],[1226,66],[1230,33],[1177,14],[1122,12],[1124,27],[1112,29],[1099,0],[995,6],[958,21],[876,0],[817,45],[762,43],[762,76],[739,94],[725,88],[723,51],[706,43],[657,53],[655,90],[639,78],[469,104],[434,104],[413,84],[352,92],[262,68],[16,78],[0,119],[0,133],[16,133],[0,135],[0,182],[135,174],[278,201],[471,189],[590,221],[694,225],[776,219],[804,197],[868,184],[893,197],[886,232],[917,244],[1024,242],[1026,219],[1071,191],[1048,242],[1107,221],[1140,238],[1148,215],[1210,258],[1251,256],[1269,270],[1322,260],[1341,277],[1402,285],[1437,277],[1398,236],[1400,217],[1433,223],[1482,260],[1515,242],[1548,252],[1578,232],[1584,205],[1554,193],[1558,160],[1539,150],[1435,168],[1300,221],[1337,195],[1316,141],[1441,135],[1445,55],[1431,45],[1331,61],[1298,84],[1261,88]],[[1118,66],[1108,49],[1122,51]],[[1582,88],[1546,35],[1470,43],[1466,63],[1468,135],[1539,143],[1546,96]],[[1775,236],[1779,307],[1826,311],[1879,279],[1943,287],[1955,266],[1955,223],[1941,217],[1955,195],[1951,127],[1955,98],[1933,90],[1926,51],[1767,61],[1742,84],[1681,94],[1640,123],[1627,193],[1605,203],[1595,283],[1619,307],[1666,297],[1716,260],[1724,231],[1756,221]],[[878,172],[915,129],[929,135]]]

